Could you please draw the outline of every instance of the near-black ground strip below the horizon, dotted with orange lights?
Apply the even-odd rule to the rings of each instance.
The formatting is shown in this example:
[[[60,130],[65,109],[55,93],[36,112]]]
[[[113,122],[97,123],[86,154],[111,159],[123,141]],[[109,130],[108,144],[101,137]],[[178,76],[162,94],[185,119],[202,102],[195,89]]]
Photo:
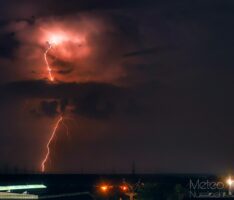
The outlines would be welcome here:
[[[195,198],[204,192],[213,192],[213,199],[222,190],[199,190],[195,188],[191,193],[191,181],[198,187],[197,181],[207,183],[222,181],[223,178],[213,175],[183,175],[183,174],[16,174],[0,175],[0,185],[44,184],[46,189],[30,190],[40,198],[88,200],[88,199],[129,199],[127,193],[136,193],[139,200],[182,200]],[[102,188],[107,186],[108,188]],[[127,186],[123,188],[123,186]],[[103,190],[102,190],[103,189]],[[126,190],[125,190],[126,189]],[[209,189],[209,188],[207,188]],[[24,191],[20,191],[24,192]],[[80,195],[76,195],[79,194]],[[59,196],[57,196],[59,195]],[[70,196],[69,196],[70,195]],[[74,195],[74,196],[73,196]],[[207,194],[205,194],[207,195]],[[210,195],[210,194],[209,194]],[[220,197],[221,198],[221,197]],[[225,199],[222,197],[222,199]],[[230,198],[229,198],[230,199]]]

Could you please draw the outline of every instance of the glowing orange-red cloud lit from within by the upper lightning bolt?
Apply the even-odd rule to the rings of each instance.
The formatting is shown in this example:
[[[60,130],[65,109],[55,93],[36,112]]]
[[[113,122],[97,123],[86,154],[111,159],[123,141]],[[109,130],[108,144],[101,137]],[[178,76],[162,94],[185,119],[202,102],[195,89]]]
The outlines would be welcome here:
[[[126,76],[122,55],[137,41],[129,40],[135,36],[124,35],[118,23],[108,17],[81,13],[38,18],[33,23],[12,21],[3,31],[14,33],[19,45],[14,49],[13,62],[5,58],[4,67],[17,72],[16,80],[46,80],[43,53],[52,45],[47,59],[57,81],[116,83]]]

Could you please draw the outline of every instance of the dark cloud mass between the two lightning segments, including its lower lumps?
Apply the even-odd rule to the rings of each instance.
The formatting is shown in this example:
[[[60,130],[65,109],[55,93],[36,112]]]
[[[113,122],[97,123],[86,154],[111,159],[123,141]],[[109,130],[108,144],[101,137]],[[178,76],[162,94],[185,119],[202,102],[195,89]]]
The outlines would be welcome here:
[[[53,117],[72,107],[72,113],[87,118],[105,119],[125,113],[139,115],[144,113],[139,94],[130,88],[102,83],[58,83],[45,81],[23,81],[2,86],[5,99],[45,99],[39,108],[33,110],[36,116]],[[47,99],[47,100],[46,100]],[[57,99],[57,100],[49,100]]]

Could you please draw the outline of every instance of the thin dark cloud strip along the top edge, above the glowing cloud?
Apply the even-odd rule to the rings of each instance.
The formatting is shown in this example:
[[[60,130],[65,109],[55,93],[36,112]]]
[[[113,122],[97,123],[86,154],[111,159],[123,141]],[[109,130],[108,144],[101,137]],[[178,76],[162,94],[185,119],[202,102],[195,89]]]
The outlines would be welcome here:
[[[29,18],[31,16],[66,15],[81,11],[105,11],[152,5],[153,0],[9,0],[0,8],[1,18]],[[18,9],[17,9],[18,8]]]

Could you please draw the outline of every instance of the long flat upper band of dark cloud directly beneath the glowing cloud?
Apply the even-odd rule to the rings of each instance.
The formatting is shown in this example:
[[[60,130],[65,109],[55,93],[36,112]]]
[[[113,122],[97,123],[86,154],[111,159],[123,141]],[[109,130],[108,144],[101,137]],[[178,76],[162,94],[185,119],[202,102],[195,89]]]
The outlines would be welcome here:
[[[90,92],[101,92],[110,95],[121,92],[122,89],[106,83],[58,83],[39,81],[19,81],[2,85],[5,97],[29,97],[29,98],[74,98],[89,94]],[[124,90],[123,90],[124,91]]]

